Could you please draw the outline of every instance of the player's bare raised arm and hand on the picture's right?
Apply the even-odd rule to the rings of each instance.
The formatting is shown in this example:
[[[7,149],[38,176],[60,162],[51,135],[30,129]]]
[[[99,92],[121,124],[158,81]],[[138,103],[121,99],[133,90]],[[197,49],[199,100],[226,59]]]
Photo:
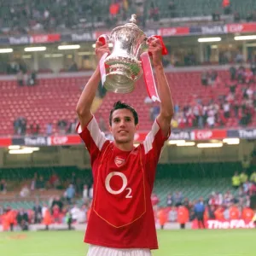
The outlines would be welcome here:
[[[162,64],[162,46],[160,39],[150,38],[148,51],[152,53],[152,64],[156,75],[157,89],[160,97],[160,114],[157,117],[157,121],[161,130],[167,136],[170,131],[174,111],[171,90]]]

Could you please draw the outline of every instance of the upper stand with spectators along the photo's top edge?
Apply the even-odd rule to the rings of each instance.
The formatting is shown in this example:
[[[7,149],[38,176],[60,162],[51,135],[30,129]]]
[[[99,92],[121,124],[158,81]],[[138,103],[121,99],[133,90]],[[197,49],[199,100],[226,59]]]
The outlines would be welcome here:
[[[171,8],[172,3],[172,8]],[[231,13],[239,13],[245,19],[253,13],[256,3],[253,0],[231,1]],[[137,13],[145,20],[150,20],[152,8],[157,9],[157,18],[212,17],[213,13],[223,14],[222,0],[183,0],[183,1],[1,1],[1,32],[19,34],[29,32],[56,32],[83,30],[96,27],[113,26],[116,22],[126,20],[131,13]],[[63,18],[63,15],[65,18]],[[141,19],[141,18],[140,18]],[[212,20],[212,19],[211,19]]]

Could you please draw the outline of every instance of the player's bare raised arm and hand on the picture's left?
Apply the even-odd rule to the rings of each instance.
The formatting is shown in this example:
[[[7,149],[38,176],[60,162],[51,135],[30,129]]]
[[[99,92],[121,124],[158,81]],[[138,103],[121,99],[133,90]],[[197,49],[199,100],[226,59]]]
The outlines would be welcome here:
[[[96,42],[96,58],[100,61],[102,55],[106,52],[109,52],[108,44],[102,45],[101,42]],[[79,121],[82,130],[89,123],[92,118],[92,113],[90,112],[90,108],[92,102],[96,96],[96,91],[98,85],[101,81],[101,74],[99,65],[96,67],[96,71],[90,77],[88,83],[84,86],[84,90],[79,98],[79,102],[77,104],[76,112],[79,116]]]

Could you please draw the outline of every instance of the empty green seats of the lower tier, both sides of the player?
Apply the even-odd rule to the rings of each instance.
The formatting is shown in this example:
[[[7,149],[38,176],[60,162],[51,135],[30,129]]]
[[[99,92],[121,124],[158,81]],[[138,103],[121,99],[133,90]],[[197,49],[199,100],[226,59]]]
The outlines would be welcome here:
[[[181,191],[183,198],[188,197],[189,201],[194,201],[201,196],[207,199],[212,191],[224,194],[230,190],[233,193],[235,191],[231,187],[231,177],[236,170],[241,170],[241,163],[159,165],[154,192],[160,197],[160,205],[162,206],[166,206],[166,195],[169,193],[173,195],[176,191]],[[34,172],[38,172],[38,175],[44,175],[45,180],[47,180],[52,171],[57,173],[62,182],[71,177],[71,172],[75,172],[84,183],[92,183],[90,170],[81,172],[76,167],[52,167],[51,170],[48,168],[6,169],[0,172],[0,176],[11,183],[16,180],[27,181],[28,178],[32,178]],[[55,189],[36,190],[32,192],[30,197],[20,199],[20,196],[15,195],[20,191],[17,189],[20,189],[19,186],[16,187],[15,191],[9,191],[7,195],[0,195],[0,203],[15,209],[20,207],[29,209],[32,208],[36,198],[44,204],[44,202],[49,201],[50,196],[63,195],[64,192],[64,190]],[[9,199],[11,195],[13,195],[12,200]],[[82,205],[83,200],[79,200],[77,203]]]

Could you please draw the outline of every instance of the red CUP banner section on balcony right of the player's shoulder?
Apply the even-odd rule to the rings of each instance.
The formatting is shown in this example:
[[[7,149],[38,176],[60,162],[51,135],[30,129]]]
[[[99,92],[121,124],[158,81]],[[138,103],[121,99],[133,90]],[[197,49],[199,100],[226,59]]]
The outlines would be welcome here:
[[[224,139],[227,137],[226,130],[195,130],[191,132],[192,140]]]

